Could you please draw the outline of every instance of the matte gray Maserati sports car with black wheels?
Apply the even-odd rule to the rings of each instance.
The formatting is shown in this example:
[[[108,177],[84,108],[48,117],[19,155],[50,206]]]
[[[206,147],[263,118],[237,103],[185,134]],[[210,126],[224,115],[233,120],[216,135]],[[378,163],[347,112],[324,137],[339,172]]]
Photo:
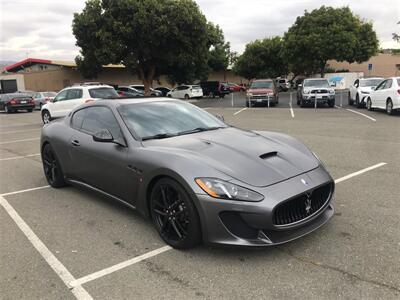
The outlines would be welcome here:
[[[168,98],[99,100],[43,127],[52,187],[76,184],[149,216],[175,248],[270,246],[333,215],[334,181],[302,143]]]

